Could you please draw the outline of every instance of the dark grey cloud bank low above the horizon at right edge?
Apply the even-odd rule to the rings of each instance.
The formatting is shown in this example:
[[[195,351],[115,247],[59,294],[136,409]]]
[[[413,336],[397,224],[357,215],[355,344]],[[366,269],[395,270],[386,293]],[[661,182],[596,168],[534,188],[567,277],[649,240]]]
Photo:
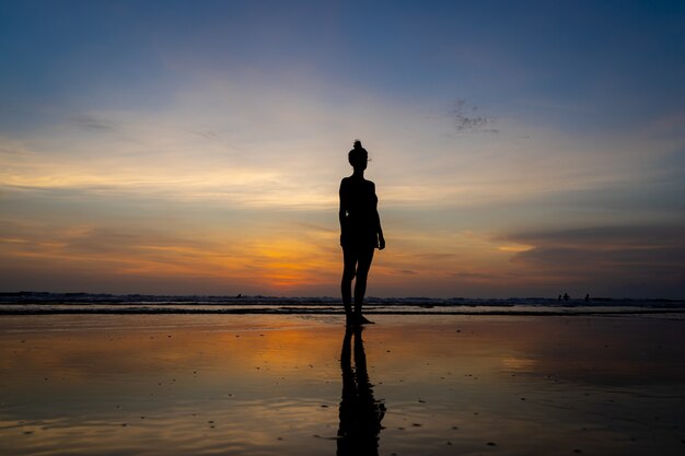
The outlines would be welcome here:
[[[635,297],[685,295],[685,224],[548,230],[506,236],[531,248],[511,264],[561,290]]]

